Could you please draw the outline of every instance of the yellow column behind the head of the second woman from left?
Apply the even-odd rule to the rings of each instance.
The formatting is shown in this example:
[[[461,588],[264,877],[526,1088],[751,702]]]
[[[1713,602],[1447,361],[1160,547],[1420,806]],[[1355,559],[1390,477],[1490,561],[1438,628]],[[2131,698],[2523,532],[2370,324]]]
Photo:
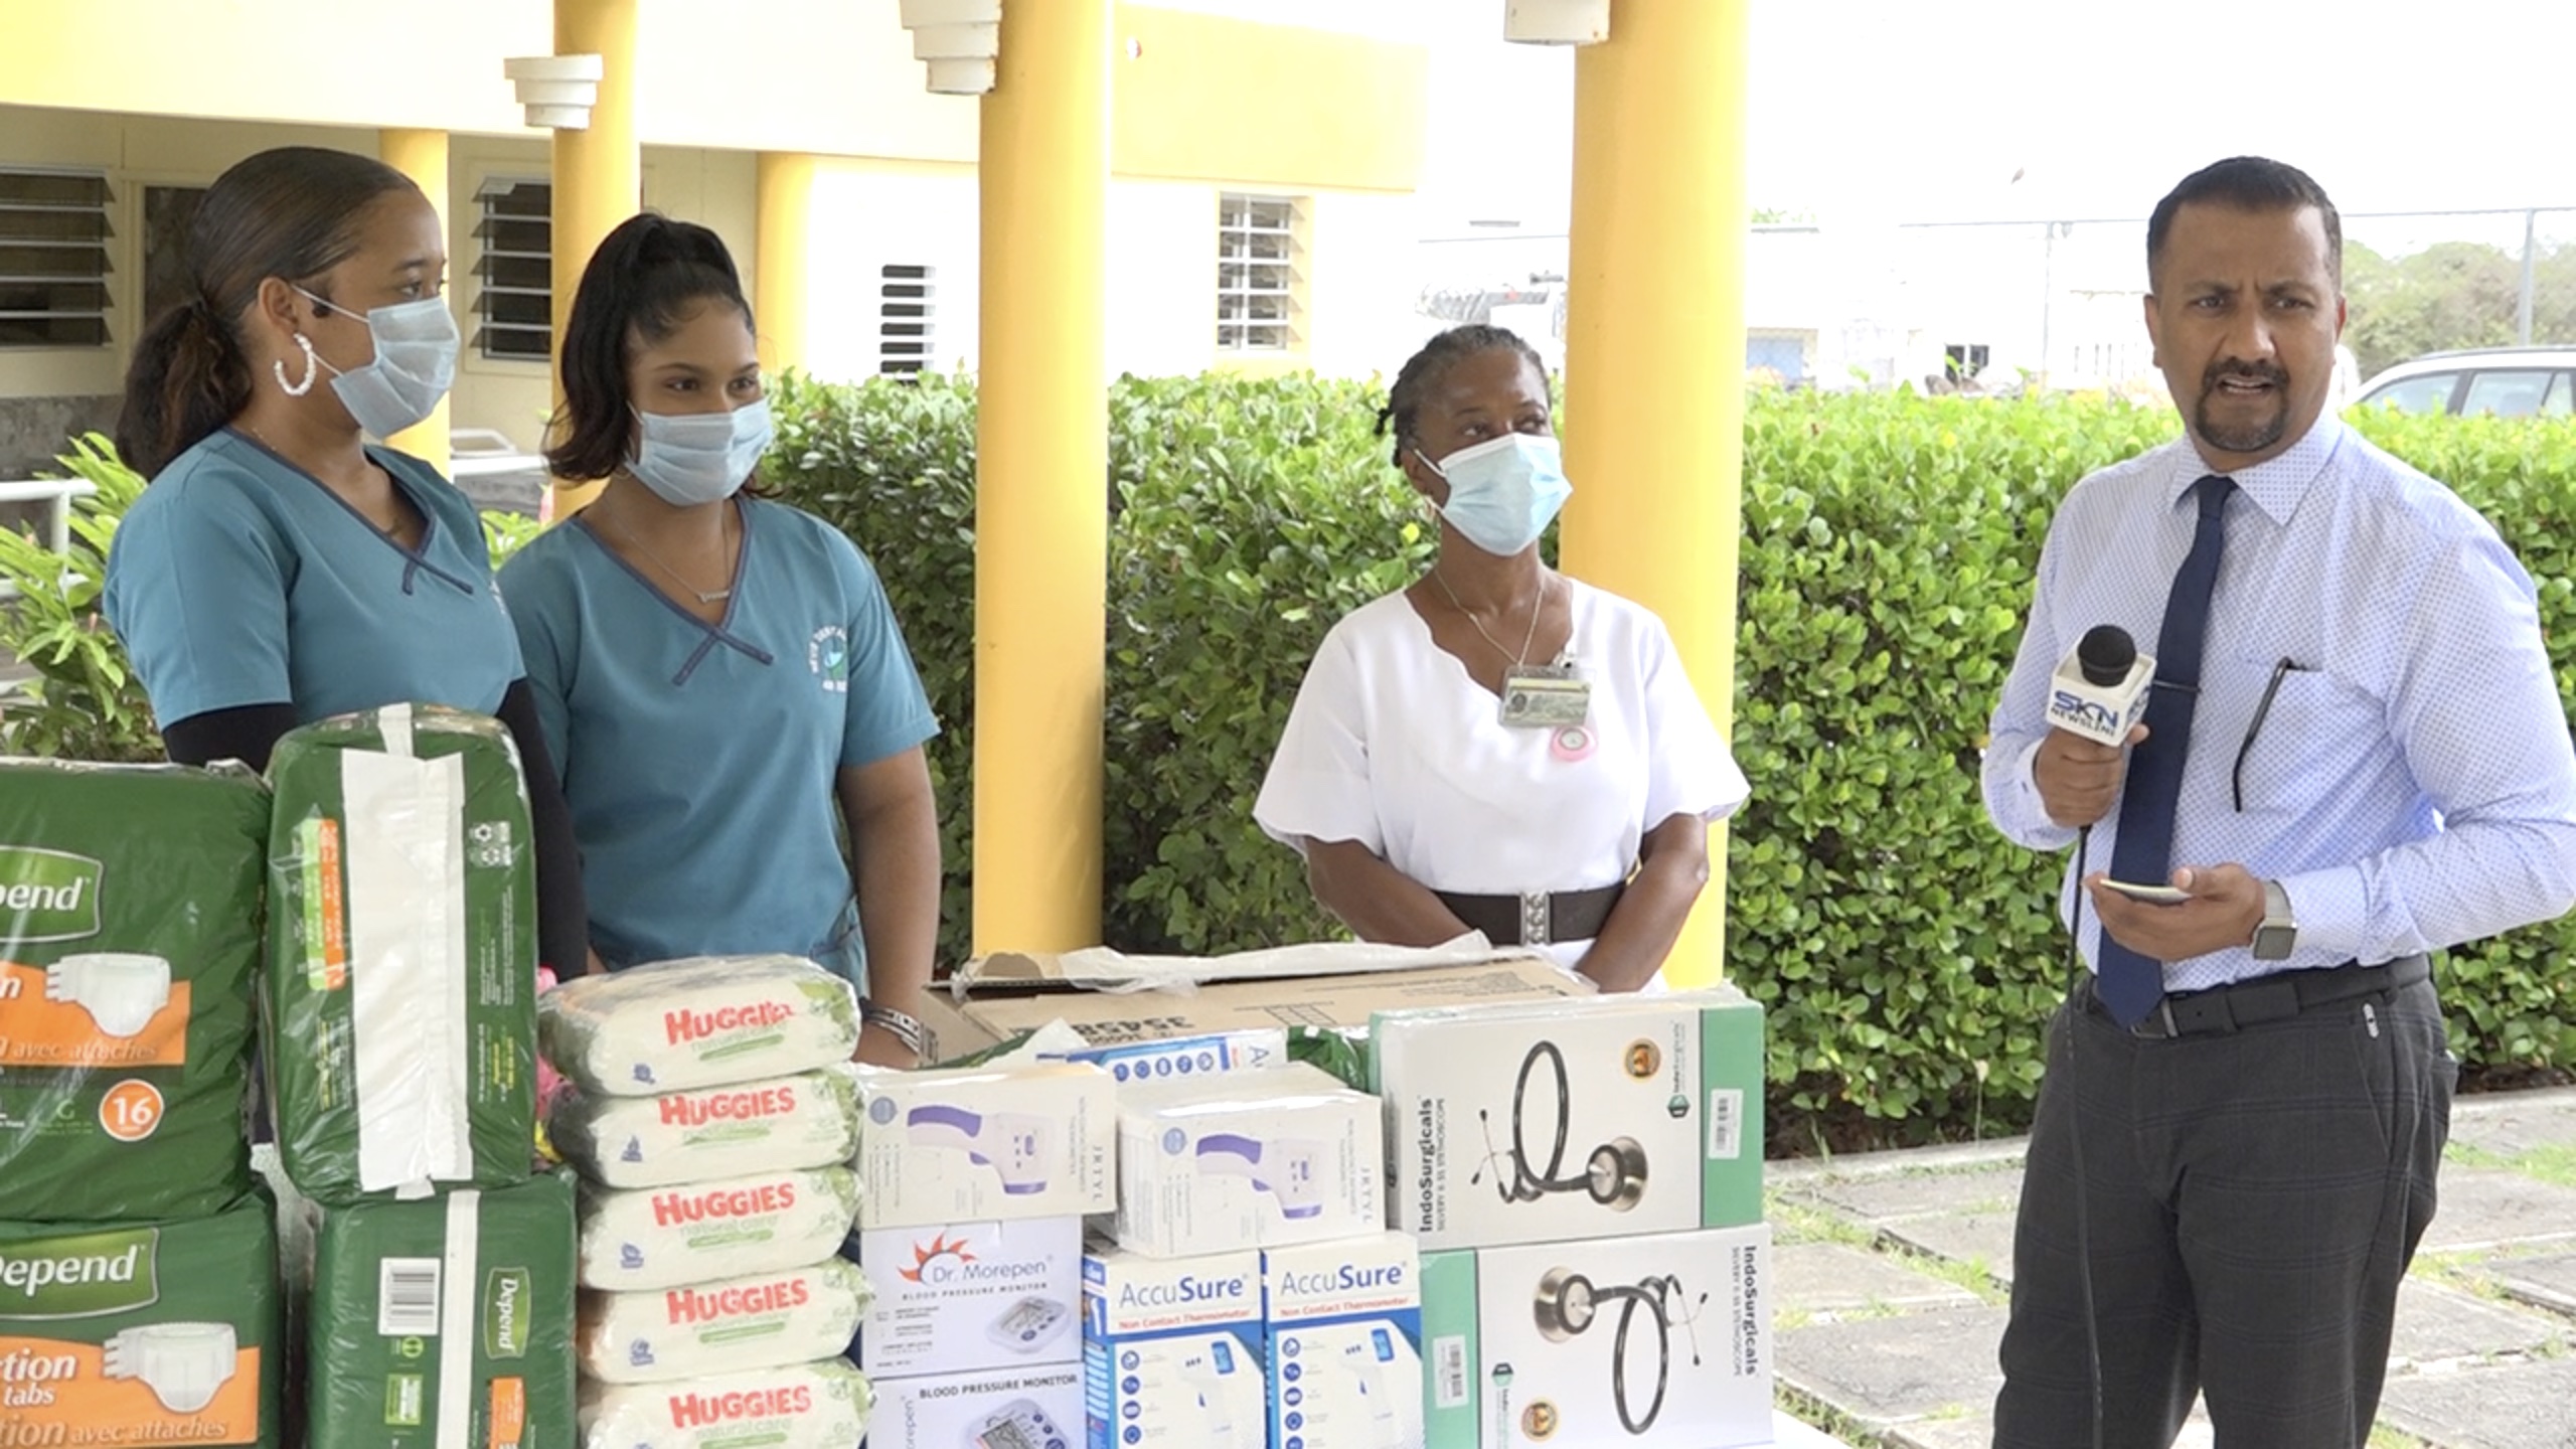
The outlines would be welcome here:
[[[554,0],[554,54],[600,57],[600,101],[590,129],[554,131],[554,338],[564,340],[572,294],[600,240],[644,206],[644,150],[636,144],[639,0]],[[564,400],[564,379],[554,379]],[[554,516],[598,498],[600,485],[556,485]]]

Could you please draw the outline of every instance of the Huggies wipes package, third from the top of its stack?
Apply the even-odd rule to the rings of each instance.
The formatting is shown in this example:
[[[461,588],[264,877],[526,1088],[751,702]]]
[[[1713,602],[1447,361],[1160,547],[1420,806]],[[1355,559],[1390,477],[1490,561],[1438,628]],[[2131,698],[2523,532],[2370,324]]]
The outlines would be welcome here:
[[[582,1189],[582,1287],[675,1289],[819,1263],[858,1217],[850,1168],[667,1189]]]

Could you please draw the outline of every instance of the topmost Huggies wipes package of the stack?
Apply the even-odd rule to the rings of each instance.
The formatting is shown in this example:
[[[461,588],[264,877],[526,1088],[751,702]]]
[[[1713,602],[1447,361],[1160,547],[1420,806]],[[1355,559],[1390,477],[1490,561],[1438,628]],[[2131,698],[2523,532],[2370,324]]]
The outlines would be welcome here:
[[[799,957],[688,957],[574,977],[538,1003],[538,1031],[582,1091],[659,1096],[848,1062],[858,990]]]

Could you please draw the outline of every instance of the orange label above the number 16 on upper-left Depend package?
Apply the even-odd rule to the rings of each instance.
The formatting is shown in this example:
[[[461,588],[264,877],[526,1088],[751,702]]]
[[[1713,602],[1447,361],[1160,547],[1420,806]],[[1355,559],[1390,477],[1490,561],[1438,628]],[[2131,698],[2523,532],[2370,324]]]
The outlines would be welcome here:
[[[185,1062],[188,982],[137,969],[137,957],[64,957],[52,967],[0,962],[0,1067]]]

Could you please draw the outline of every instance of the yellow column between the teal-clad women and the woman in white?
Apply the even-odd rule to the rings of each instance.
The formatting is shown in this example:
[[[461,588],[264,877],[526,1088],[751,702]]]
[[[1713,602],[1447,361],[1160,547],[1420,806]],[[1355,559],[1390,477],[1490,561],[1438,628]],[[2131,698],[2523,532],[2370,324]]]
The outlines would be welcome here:
[[[1100,941],[1110,0],[1002,8],[984,98],[974,944]]]

